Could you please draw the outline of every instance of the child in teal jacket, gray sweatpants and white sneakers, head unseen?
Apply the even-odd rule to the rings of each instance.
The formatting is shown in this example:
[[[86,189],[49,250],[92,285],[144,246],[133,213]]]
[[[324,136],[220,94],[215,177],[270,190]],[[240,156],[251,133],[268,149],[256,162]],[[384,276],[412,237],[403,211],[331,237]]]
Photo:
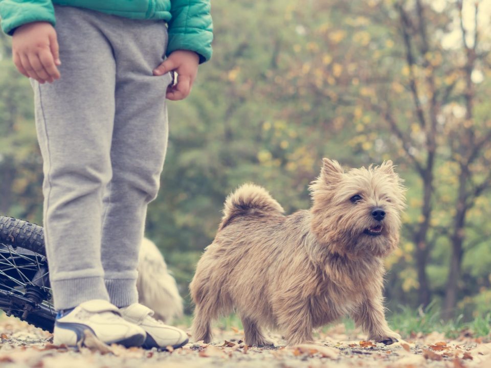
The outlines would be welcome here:
[[[186,98],[211,57],[209,0],[2,0],[0,15],[35,95],[54,343],[90,330],[127,347],[183,346],[184,331],[138,304],[136,267],[165,99]]]

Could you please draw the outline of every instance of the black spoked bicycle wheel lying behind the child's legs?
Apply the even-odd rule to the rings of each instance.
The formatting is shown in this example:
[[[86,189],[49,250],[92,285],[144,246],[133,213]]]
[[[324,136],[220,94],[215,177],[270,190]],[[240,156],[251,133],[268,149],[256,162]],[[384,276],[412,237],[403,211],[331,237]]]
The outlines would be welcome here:
[[[48,262],[41,226],[0,216],[0,309],[53,332]]]

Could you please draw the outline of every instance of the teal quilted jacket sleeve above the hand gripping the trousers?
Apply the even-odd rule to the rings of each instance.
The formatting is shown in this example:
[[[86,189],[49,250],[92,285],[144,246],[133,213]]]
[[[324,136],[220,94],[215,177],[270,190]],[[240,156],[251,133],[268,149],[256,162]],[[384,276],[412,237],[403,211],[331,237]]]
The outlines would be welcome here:
[[[199,63],[210,60],[213,23],[210,0],[171,0],[167,55],[175,50],[191,50]]]

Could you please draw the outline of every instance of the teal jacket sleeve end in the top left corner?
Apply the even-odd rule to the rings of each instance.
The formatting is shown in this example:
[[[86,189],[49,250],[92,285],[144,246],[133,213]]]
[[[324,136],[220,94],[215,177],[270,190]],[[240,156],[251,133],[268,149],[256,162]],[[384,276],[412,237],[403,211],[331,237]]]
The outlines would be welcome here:
[[[19,26],[34,21],[55,25],[55,11],[51,0],[0,0],[2,29],[12,35]]]

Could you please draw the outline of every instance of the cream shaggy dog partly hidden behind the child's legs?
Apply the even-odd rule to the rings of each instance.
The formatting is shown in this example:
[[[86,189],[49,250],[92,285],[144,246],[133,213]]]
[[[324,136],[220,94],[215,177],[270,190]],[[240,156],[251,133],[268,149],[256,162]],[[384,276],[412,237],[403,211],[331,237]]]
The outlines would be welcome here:
[[[155,244],[143,239],[138,256],[138,300],[153,309],[155,318],[170,324],[183,314],[183,300],[174,278],[169,274],[161,252]]]

